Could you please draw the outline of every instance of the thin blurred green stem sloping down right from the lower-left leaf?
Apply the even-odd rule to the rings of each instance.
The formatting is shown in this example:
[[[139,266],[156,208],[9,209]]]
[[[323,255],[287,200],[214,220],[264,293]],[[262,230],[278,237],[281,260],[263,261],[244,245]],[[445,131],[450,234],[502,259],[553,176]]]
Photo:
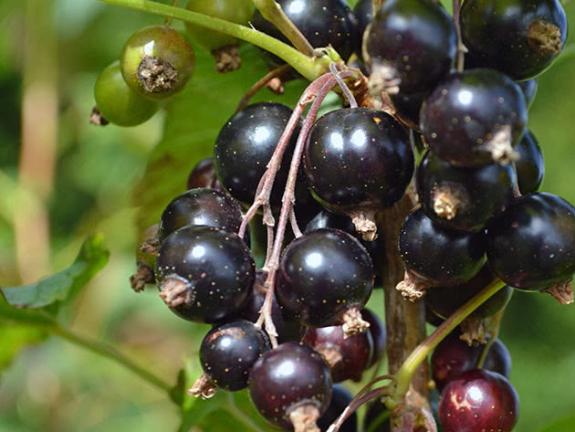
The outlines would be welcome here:
[[[121,364],[122,366],[130,369],[134,374],[137,374],[142,379],[151,385],[155,385],[164,392],[169,393],[172,390],[172,385],[166,383],[162,380],[162,378],[156,376],[155,374],[152,374],[152,372],[149,372],[137,364],[132,363],[129,358],[125,357],[123,354],[119,353],[117,350],[112,348],[110,345],[107,345],[106,343],[79,336],[75,332],[70,332],[69,330],[59,326],[48,327],[47,330],[57,334],[57,336],[60,336],[63,339],[66,339],[68,342],[72,342],[78,346],[81,346],[82,348],[86,348],[92,353],[97,353],[102,357],[109,358],[110,360]]]

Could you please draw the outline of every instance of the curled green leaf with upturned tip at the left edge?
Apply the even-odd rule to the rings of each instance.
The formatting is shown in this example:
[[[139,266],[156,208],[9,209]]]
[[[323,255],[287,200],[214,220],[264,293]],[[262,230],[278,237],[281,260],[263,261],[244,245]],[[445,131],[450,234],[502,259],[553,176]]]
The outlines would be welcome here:
[[[5,288],[2,293],[5,300],[15,308],[44,308],[58,301],[70,300],[106,265],[109,257],[110,252],[104,248],[103,237],[89,237],[80,248],[78,257],[67,269],[35,284]],[[50,308],[50,311],[57,310],[57,306]]]

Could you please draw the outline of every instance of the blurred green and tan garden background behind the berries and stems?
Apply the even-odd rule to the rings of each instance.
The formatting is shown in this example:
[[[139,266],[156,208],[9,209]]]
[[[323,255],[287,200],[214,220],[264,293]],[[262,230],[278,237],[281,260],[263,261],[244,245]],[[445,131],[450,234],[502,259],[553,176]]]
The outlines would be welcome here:
[[[575,28],[575,4],[564,5]],[[65,268],[89,234],[103,233],[110,262],[65,321],[175,382],[183,364],[193,377],[200,374],[197,348],[207,327],[176,318],[154,290],[136,295],[130,289],[137,232],[183,192],[193,164],[210,155],[215,134],[266,68],[255,49],[244,47],[245,66],[220,76],[212,58],[196,52],[193,82],[151,121],[135,128],[89,125],[101,69],[119,57],[131,33],[161,22],[94,0],[0,2],[0,286]],[[546,158],[541,189],[570,203],[574,76],[575,42],[568,40],[563,57],[538,79],[529,114]],[[291,83],[278,100],[293,103],[302,88]],[[270,98],[266,90],[256,100]],[[371,307],[383,310],[381,292]],[[513,357],[510,379],[521,400],[517,432],[575,430],[574,307],[516,292],[507,308],[500,337]],[[178,428],[177,408],[165,394],[118,364],[46,337],[0,324],[0,431]],[[203,424],[194,430],[224,430]]]

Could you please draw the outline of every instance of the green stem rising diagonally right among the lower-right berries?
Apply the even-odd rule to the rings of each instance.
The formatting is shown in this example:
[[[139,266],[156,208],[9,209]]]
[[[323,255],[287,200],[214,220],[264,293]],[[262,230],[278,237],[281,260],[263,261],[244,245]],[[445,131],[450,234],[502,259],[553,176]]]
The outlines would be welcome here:
[[[467,301],[461,308],[454,312],[447,320],[445,320],[435,332],[433,332],[425,341],[413,350],[413,353],[403,362],[402,367],[395,374],[395,389],[392,392],[390,400],[386,401],[388,408],[392,409],[396,404],[400,403],[403,396],[409,390],[409,384],[412,381],[415,370],[422,364],[427,356],[434,351],[434,348],[439,342],[444,340],[444,337],[452,332],[461,321],[479,306],[481,306],[487,299],[494,295],[498,290],[505,286],[505,282],[501,279],[496,279],[486,288],[479,291],[475,297]],[[433,290],[433,289],[432,289]]]

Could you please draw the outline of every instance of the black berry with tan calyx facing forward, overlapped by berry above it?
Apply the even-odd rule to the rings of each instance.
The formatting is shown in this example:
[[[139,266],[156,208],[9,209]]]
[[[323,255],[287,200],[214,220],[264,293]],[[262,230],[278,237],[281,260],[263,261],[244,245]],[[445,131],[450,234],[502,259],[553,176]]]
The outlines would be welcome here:
[[[459,168],[427,151],[417,167],[419,202],[434,222],[466,232],[482,230],[514,196],[513,165]]]

